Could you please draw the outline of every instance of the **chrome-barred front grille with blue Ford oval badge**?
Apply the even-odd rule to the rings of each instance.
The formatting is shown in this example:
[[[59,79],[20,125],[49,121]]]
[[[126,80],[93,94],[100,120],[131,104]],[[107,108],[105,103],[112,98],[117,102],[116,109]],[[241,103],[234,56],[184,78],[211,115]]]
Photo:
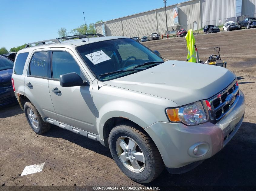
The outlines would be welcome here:
[[[237,80],[233,81],[227,88],[218,93],[217,95],[211,97],[208,100],[204,100],[205,104],[208,101],[211,105],[211,109],[209,111],[210,121],[212,123],[217,123],[219,120],[224,118],[234,107],[239,97],[239,87],[236,85]],[[234,94],[235,100],[233,103],[231,99],[233,96],[230,94]],[[206,107],[207,108],[207,107]]]

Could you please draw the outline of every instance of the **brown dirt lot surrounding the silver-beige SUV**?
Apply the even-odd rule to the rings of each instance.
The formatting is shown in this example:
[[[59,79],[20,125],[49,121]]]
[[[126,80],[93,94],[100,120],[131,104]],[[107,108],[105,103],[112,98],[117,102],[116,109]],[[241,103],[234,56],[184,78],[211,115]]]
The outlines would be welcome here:
[[[231,142],[194,170],[164,172],[145,186],[256,186],[256,29],[198,35],[199,56],[206,60],[220,46],[227,68],[238,76],[246,97],[244,122]],[[168,59],[185,60],[183,38],[143,43]],[[200,77],[200,74],[198,78]],[[209,76],[210,78],[211,76]],[[19,105],[0,109],[0,184],[6,186],[135,186],[99,142],[54,126],[35,134]],[[45,162],[42,172],[20,176],[25,166]],[[3,187],[2,187],[3,188]]]

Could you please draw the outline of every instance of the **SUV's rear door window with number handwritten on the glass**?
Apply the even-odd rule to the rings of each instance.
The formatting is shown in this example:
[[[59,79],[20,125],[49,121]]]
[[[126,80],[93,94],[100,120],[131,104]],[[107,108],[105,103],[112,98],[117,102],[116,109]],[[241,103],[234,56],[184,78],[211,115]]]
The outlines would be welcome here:
[[[30,75],[39,77],[48,77],[47,57],[48,52],[34,53],[29,64]]]

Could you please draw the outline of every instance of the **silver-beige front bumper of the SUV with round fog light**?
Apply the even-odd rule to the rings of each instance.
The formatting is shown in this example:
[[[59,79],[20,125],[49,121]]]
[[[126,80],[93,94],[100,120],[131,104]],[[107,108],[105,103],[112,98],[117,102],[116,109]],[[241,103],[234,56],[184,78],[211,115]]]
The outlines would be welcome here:
[[[180,168],[210,158],[220,151],[238,131],[244,118],[244,94],[240,91],[233,110],[218,123],[186,126],[183,123],[157,122],[145,128],[155,142],[167,168]],[[204,145],[201,156],[191,154],[194,145]],[[200,146],[199,146],[200,147]]]

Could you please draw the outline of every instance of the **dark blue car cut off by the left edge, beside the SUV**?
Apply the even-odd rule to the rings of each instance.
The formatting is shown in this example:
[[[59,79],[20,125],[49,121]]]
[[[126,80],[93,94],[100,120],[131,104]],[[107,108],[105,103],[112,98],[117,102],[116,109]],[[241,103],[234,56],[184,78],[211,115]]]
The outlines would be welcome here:
[[[0,107],[10,103],[17,103],[12,88],[13,64],[10,59],[0,56]]]

